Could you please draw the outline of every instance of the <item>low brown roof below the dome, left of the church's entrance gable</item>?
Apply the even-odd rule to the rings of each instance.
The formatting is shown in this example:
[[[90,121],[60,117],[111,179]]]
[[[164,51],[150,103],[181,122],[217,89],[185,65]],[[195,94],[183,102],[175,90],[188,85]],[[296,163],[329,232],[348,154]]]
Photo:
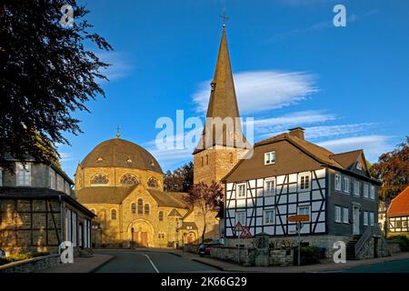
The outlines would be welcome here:
[[[121,204],[136,186],[91,186],[75,191],[76,198],[85,204]]]

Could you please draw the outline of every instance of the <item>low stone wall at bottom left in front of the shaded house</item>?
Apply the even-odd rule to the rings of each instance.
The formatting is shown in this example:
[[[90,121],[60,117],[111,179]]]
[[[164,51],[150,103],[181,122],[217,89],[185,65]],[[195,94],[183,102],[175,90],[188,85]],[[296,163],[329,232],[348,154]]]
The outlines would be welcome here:
[[[36,273],[58,265],[59,255],[41,256],[0,266],[0,273]]]

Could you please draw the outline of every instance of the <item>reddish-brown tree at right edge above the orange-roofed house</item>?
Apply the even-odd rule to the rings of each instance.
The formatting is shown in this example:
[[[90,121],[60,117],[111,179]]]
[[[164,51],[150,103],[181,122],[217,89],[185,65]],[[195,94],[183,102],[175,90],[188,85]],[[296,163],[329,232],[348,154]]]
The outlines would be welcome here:
[[[371,174],[382,180],[380,198],[389,203],[409,184],[409,136],[397,145],[393,151],[379,156],[378,162],[371,167]]]

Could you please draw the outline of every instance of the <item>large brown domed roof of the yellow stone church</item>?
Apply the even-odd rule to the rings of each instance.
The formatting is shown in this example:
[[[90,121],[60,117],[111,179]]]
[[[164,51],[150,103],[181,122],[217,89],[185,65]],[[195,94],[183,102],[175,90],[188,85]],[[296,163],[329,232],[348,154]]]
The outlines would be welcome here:
[[[163,173],[162,168],[144,147],[122,138],[102,142],[87,155],[82,167],[128,167]]]

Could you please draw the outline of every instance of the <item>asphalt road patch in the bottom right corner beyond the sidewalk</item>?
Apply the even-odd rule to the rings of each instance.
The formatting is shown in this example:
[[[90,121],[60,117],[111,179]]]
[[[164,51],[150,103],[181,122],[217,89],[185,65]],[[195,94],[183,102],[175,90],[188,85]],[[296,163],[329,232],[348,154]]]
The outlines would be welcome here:
[[[409,273],[409,259],[384,262],[368,266],[355,266],[342,273]]]

